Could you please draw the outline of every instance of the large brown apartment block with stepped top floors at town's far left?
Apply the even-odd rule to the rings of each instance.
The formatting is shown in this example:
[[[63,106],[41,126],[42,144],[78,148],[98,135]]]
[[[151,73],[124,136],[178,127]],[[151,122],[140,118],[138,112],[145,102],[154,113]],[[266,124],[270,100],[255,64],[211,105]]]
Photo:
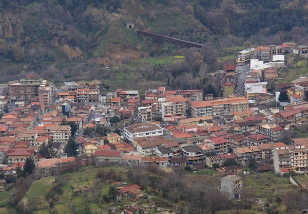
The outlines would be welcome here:
[[[48,80],[30,76],[20,81],[10,82],[8,83],[9,99],[13,102],[39,102],[40,86],[48,86]]]

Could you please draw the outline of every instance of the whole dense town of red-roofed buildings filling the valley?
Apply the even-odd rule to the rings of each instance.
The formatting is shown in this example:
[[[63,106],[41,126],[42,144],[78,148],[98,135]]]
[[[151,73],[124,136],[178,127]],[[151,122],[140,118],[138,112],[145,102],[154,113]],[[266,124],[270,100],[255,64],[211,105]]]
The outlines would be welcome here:
[[[88,83],[54,85],[35,75],[2,85],[3,179],[17,176],[17,168],[29,158],[35,173],[44,177],[68,170],[76,157],[81,165],[215,168],[229,174],[221,180],[222,189],[228,182],[241,184],[236,174],[249,173],[242,168],[251,163],[257,172],[305,173],[308,138],[281,140],[308,121],[308,77],[279,84],[275,95],[268,93],[267,81],[279,78],[286,51],[304,56],[308,46],[239,52],[238,65],[226,64],[215,74],[221,78],[223,97],[165,86],[144,94],[123,88],[110,92]],[[264,104],[282,92],[290,102],[280,102],[280,108]],[[77,145],[75,153],[68,141]],[[42,155],[42,145],[51,145],[54,155]],[[140,187],[134,191],[140,194]],[[239,198],[241,188],[228,194]]]

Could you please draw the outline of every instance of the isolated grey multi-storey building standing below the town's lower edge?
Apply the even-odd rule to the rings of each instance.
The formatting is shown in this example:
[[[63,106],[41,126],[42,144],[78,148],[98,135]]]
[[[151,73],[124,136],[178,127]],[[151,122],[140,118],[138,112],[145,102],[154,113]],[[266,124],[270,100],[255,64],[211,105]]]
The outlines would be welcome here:
[[[229,198],[241,198],[243,179],[238,175],[226,175],[220,179],[221,191],[226,192]]]

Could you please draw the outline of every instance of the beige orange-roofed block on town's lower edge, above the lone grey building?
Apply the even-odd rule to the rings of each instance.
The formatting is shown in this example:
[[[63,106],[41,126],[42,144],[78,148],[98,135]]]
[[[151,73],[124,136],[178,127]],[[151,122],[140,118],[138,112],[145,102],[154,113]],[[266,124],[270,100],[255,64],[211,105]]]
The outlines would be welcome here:
[[[238,156],[238,162],[243,166],[248,165],[251,158],[255,158],[256,161],[262,161],[260,146],[236,148],[233,152]]]

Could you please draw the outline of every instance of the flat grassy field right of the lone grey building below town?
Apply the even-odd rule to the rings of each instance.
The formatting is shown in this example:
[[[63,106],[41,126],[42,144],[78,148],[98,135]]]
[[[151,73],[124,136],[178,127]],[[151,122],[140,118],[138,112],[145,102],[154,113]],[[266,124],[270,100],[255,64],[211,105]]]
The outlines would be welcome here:
[[[288,177],[280,177],[273,172],[258,173],[245,176],[243,180],[243,191],[252,189],[256,198],[263,200],[282,197],[287,191],[296,188]]]

